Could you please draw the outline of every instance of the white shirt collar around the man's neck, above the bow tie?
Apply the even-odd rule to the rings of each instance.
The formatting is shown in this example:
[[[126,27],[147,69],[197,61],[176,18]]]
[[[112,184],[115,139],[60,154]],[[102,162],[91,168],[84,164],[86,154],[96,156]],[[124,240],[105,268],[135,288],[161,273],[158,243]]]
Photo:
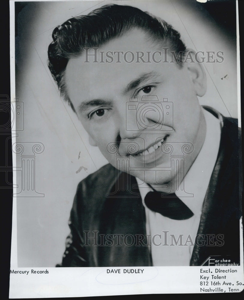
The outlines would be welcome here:
[[[220,120],[204,109],[203,114],[206,120],[205,140],[197,158],[184,177],[185,191],[194,194],[194,197],[180,197],[176,191],[176,195],[195,215],[201,214],[203,201],[218,156],[221,136]],[[144,198],[152,189],[140,179],[136,178],[136,180],[145,206]]]

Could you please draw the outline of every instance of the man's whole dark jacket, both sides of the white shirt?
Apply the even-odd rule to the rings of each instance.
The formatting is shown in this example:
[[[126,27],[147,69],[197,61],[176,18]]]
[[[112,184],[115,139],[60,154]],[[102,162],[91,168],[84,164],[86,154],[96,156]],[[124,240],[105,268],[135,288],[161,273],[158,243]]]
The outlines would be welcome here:
[[[239,262],[239,182],[242,181],[239,176],[241,164],[238,152],[236,120],[223,117],[218,157],[203,202],[197,233],[200,239],[203,238],[203,245],[200,246],[198,240],[190,265],[201,265],[214,255],[229,256],[232,261]],[[116,182],[122,182],[124,186],[118,189]],[[152,265],[150,251],[146,246],[145,209],[136,185],[134,177],[116,170],[110,164],[78,184],[69,220],[71,234],[66,240],[62,264],[57,266]],[[128,235],[128,245],[119,241],[119,234]],[[223,235],[224,244],[216,245],[216,240],[214,242],[210,238],[210,245],[204,245],[206,237],[220,234]],[[131,235],[141,236],[141,241],[135,240],[129,246]]]

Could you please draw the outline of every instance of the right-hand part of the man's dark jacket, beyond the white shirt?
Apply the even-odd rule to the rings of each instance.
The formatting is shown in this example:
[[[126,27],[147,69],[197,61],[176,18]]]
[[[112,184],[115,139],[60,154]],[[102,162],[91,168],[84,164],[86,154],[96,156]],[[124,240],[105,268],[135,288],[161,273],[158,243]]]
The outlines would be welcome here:
[[[238,128],[224,118],[219,152],[203,202],[197,232],[198,235],[202,235],[205,245],[194,246],[190,265],[201,265],[209,256],[229,255],[233,253],[233,244],[238,245],[238,173]],[[208,241],[209,235],[213,235],[216,241],[216,236],[220,234],[224,244],[213,247],[212,242]]]

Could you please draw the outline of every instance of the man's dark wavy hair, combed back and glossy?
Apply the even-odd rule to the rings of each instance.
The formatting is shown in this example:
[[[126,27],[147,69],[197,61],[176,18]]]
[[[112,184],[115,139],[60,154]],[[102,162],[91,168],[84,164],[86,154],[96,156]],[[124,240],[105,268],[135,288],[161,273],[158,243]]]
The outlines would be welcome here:
[[[186,50],[179,32],[172,26],[150,13],[128,5],[107,4],[88,15],[71,18],[53,30],[53,42],[48,47],[48,67],[61,96],[68,101],[74,112],[65,89],[68,60],[81,55],[85,47],[99,47],[133,28],[142,29],[152,41],[167,45],[177,55]],[[177,63],[182,65],[181,61],[177,60]]]

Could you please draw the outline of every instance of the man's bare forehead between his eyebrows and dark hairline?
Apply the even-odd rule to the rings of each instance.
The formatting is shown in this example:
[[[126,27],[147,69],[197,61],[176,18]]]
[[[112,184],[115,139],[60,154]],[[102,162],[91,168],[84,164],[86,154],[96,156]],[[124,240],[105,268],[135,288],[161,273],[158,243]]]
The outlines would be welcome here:
[[[77,90],[80,91],[80,100],[83,96],[86,99],[88,96],[110,97],[111,91],[116,94],[122,93],[131,81],[143,74],[152,72],[154,75],[164,74],[169,69],[167,66],[169,63],[158,64],[152,60],[150,62],[138,60],[138,52],[139,56],[144,55],[145,60],[148,53],[152,55],[159,49],[162,50],[159,43],[152,43],[149,35],[140,29],[133,29],[121,37],[114,38],[96,50],[86,49],[87,52],[83,51],[79,57],[71,58],[66,67],[66,88],[71,101],[77,97]],[[119,51],[122,53],[117,53]],[[135,55],[131,62],[133,55],[128,52]],[[118,55],[120,55],[119,62]],[[103,95],[99,95],[100,92]]]

